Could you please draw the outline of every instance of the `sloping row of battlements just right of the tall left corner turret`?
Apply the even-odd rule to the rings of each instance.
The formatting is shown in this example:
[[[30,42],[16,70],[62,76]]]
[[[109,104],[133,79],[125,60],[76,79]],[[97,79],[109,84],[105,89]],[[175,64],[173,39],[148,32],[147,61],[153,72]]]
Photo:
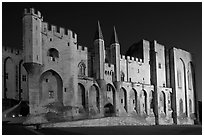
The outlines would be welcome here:
[[[58,36],[59,38],[63,38],[63,37],[65,39],[69,37],[73,39],[77,38],[77,34],[74,33],[72,30],[65,29],[63,27],[58,27],[52,24],[48,24],[47,22],[42,22],[42,32],[47,33],[48,31]]]

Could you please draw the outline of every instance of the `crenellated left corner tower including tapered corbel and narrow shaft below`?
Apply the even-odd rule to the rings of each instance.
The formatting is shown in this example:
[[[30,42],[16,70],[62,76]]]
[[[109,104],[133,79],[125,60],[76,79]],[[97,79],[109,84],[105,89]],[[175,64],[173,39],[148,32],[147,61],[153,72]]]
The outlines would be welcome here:
[[[39,79],[42,71],[42,16],[33,8],[25,9],[23,16],[23,52],[24,67],[28,72],[28,93],[30,114],[39,106]]]

